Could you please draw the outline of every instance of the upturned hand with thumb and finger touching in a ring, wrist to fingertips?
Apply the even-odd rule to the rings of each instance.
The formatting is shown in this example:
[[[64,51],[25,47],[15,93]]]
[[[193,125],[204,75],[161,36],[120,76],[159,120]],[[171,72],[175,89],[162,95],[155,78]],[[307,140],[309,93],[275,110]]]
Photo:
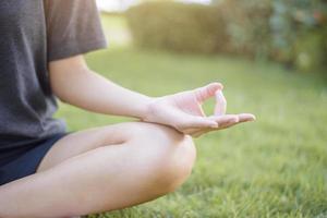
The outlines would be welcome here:
[[[216,97],[215,112],[207,117],[203,111],[202,104],[214,96]],[[147,116],[143,120],[173,126],[194,137],[255,120],[251,113],[225,114],[226,105],[222,85],[211,83],[193,90],[154,98],[148,105]]]

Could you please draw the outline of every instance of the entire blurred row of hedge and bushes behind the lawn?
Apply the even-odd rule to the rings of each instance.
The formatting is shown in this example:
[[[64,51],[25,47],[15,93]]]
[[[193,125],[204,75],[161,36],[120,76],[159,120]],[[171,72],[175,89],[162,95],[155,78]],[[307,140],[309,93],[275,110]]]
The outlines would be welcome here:
[[[327,66],[324,0],[147,2],[126,12],[136,45],[272,59],[301,71]]]

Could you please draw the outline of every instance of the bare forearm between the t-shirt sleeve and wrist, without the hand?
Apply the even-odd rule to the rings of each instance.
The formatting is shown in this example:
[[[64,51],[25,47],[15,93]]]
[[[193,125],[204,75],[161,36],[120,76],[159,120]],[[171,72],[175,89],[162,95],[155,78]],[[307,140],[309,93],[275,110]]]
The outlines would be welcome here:
[[[52,76],[53,93],[64,102],[106,114],[144,118],[150,97],[123,88],[106,77],[80,69]]]

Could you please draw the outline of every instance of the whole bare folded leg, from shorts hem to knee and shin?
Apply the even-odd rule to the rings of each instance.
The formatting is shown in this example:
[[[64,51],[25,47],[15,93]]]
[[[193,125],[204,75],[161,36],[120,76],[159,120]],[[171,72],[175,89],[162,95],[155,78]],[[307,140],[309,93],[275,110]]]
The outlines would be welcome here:
[[[0,217],[80,216],[144,203],[191,172],[189,136],[157,124],[122,123],[60,140],[36,174],[0,186]]]

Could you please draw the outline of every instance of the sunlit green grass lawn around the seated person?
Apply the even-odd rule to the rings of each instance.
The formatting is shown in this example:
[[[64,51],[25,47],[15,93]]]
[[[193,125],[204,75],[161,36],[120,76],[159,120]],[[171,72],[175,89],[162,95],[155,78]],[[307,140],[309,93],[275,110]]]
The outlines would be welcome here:
[[[89,217],[327,217],[326,81],[275,63],[130,47],[95,52],[87,61],[108,78],[150,96],[219,81],[228,112],[257,117],[254,123],[196,140],[195,168],[177,192]],[[205,105],[207,113],[213,104]],[[68,105],[57,117],[72,131],[130,120]]]

